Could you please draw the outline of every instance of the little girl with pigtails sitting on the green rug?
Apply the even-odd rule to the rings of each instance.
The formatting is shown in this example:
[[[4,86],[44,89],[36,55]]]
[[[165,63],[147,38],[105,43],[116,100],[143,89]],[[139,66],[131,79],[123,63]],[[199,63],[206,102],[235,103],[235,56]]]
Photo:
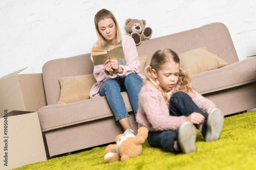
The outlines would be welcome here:
[[[174,51],[156,51],[145,75],[136,121],[139,127],[149,129],[150,146],[175,153],[196,152],[195,126],[205,141],[219,139],[224,124],[222,112],[194,90],[190,76],[179,69]]]

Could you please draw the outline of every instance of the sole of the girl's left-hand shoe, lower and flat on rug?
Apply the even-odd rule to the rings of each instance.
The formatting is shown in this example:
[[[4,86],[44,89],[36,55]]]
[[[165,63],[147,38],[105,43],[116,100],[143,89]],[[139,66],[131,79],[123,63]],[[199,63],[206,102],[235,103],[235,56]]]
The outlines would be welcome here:
[[[195,125],[184,122],[178,130],[178,142],[183,153],[197,152],[196,148],[197,131]]]

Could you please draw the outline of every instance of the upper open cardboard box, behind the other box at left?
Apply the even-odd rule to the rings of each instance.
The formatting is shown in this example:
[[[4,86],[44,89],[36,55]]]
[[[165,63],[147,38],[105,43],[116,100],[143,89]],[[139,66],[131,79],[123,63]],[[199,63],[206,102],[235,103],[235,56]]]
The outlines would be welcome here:
[[[18,74],[24,69],[0,78],[0,117],[4,110],[36,112],[47,105],[42,74]]]

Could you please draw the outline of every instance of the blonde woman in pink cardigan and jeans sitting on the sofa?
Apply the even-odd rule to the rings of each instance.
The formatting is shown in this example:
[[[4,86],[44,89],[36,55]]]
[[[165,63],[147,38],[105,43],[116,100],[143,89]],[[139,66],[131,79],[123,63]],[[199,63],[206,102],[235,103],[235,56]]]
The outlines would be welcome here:
[[[94,66],[93,74],[97,83],[90,91],[90,98],[106,96],[109,105],[124,128],[125,133],[133,133],[128,119],[128,113],[120,92],[127,91],[134,114],[138,110],[138,94],[145,77],[139,73],[140,62],[136,45],[132,37],[121,34],[119,25],[109,10],[101,9],[94,17],[95,29],[99,41],[93,46],[108,49],[116,44],[121,44],[124,51],[122,60],[106,60],[102,65]],[[91,55],[91,60],[92,55]]]

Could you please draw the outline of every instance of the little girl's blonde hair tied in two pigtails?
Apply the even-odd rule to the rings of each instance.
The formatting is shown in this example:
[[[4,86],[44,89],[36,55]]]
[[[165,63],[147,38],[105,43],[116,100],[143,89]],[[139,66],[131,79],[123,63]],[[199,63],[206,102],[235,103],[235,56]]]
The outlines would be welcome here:
[[[156,79],[153,77],[151,73],[151,69],[155,69],[156,73],[159,74],[159,71],[165,69],[162,67],[165,63],[171,63],[173,61],[176,63],[179,63],[178,55],[171,49],[168,49],[168,48],[161,49],[156,51],[153,54],[151,63],[149,66],[146,67],[146,70],[145,70],[145,75],[147,80],[150,81],[157,89],[159,89],[162,92],[168,107],[170,103],[170,98],[168,97],[164,89],[156,82]],[[191,91],[194,90],[191,84],[190,75],[182,71],[181,69],[179,69],[179,78],[178,78],[177,84],[179,84],[180,87],[177,87],[173,93],[177,91],[184,91],[185,93],[188,93],[189,90]]]

